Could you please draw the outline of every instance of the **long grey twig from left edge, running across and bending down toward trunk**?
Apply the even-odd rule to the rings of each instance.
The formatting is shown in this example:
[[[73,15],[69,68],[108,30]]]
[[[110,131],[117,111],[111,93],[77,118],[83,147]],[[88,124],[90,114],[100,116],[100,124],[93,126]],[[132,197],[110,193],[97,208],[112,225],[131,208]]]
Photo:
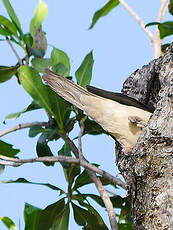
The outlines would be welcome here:
[[[119,178],[112,176],[108,172],[97,168],[95,165],[92,165],[85,160],[79,161],[79,159],[76,159],[74,157],[67,157],[67,156],[57,156],[57,157],[37,157],[37,158],[31,158],[31,159],[18,159],[18,158],[12,158],[12,157],[6,157],[3,155],[0,155],[0,164],[7,165],[7,166],[21,166],[26,163],[34,163],[34,162],[61,162],[61,163],[69,163],[69,164],[80,164],[85,169],[89,169],[105,179],[109,180],[111,184],[115,186],[120,186],[123,189],[126,190],[126,184],[121,181]]]

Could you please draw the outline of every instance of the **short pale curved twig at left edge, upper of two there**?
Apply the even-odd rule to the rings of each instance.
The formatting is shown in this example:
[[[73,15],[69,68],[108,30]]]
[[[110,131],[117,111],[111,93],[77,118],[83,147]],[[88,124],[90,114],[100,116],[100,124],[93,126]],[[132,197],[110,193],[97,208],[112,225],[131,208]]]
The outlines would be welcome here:
[[[3,130],[2,132],[0,132],[0,137],[8,134],[8,133],[12,133],[14,131],[20,130],[20,129],[26,129],[26,128],[30,128],[34,125],[38,125],[38,126],[44,126],[44,127],[48,127],[49,123],[48,122],[39,122],[39,121],[34,121],[34,122],[30,122],[30,123],[23,123],[23,124],[18,124],[12,128]]]

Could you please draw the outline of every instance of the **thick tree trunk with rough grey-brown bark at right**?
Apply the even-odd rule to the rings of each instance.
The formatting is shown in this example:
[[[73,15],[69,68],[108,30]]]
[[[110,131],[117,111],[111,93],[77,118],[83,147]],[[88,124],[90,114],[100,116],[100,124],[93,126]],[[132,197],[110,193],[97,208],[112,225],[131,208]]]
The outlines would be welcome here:
[[[135,71],[122,92],[155,111],[129,153],[117,164],[131,198],[134,230],[173,230],[173,44],[164,57]]]

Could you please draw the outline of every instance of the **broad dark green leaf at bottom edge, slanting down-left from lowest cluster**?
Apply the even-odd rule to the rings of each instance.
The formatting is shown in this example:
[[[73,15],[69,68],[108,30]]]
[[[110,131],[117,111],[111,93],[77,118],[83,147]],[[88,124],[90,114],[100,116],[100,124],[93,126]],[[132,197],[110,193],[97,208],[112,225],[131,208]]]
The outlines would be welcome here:
[[[61,216],[62,211],[65,207],[64,198],[60,199],[58,202],[47,206],[44,210],[41,211],[39,216],[38,228],[37,230],[49,230],[56,218]]]

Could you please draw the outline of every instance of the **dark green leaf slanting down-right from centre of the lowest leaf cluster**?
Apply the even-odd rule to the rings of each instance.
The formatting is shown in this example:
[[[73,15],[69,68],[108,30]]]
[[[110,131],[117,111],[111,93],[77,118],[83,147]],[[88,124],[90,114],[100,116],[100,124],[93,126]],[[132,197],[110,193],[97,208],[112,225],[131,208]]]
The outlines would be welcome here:
[[[95,230],[97,219],[92,213],[88,212],[86,209],[83,209],[73,202],[71,202],[73,208],[74,219],[76,223],[80,226],[87,226],[86,229]]]

